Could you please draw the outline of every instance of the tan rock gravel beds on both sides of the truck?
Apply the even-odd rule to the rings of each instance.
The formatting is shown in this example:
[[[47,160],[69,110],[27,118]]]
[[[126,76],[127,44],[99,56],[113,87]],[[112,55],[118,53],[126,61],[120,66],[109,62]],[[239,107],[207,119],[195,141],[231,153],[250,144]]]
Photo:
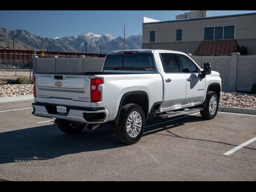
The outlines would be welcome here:
[[[0,97],[33,94],[32,84],[0,85]],[[256,94],[222,92],[220,106],[256,109]]]

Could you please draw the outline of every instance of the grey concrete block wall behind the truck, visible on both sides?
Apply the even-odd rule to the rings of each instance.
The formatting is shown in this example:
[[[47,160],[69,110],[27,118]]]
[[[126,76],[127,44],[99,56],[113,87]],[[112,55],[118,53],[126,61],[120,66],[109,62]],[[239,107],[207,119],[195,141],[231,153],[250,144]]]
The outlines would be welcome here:
[[[201,68],[211,63],[212,70],[220,73],[222,90],[250,91],[256,83],[256,55],[191,56]],[[105,58],[34,58],[33,68],[39,73],[100,72]]]

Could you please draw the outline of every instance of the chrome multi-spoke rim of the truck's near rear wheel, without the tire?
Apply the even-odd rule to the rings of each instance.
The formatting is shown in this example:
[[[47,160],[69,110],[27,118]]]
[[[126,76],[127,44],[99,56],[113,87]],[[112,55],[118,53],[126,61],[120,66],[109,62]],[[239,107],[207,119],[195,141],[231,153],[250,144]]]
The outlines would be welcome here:
[[[140,133],[142,119],[137,111],[131,112],[127,119],[126,130],[130,137],[135,138]]]

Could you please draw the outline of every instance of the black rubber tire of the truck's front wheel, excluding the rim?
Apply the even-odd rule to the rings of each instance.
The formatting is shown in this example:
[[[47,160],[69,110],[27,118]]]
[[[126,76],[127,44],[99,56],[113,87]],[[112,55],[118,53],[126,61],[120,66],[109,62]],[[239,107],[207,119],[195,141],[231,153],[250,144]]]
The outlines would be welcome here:
[[[210,113],[210,100],[212,97],[215,97],[216,102],[217,102],[217,107],[216,107],[216,111],[214,114]],[[204,110],[200,111],[200,114],[201,114],[202,118],[204,118],[204,119],[208,119],[208,120],[213,119],[217,115],[218,107],[219,107],[219,99],[218,99],[218,95],[216,94],[216,92],[208,91],[207,99],[205,102],[206,102],[206,104],[205,104]]]

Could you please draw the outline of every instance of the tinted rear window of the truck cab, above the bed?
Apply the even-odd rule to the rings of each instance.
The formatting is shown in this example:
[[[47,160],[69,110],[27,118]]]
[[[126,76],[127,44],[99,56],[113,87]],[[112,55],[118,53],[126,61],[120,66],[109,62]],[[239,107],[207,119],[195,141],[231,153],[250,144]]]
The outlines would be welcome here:
[[[156,70],[153,54],[118,54],[108,55],[104,64],[104,70]]]

